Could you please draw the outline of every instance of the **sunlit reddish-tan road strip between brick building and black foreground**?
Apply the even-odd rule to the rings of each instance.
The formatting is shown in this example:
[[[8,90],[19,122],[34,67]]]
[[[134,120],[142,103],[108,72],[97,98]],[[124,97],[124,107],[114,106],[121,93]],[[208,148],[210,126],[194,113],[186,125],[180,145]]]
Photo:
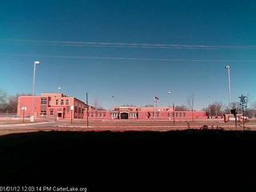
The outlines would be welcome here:
[[[1,134],[26,133],[35,131],[50,131],[50,130],[67,130],[67,131],[168,131],[168,130],[186,130],[186,129],[200,129],[207,125],[209,129],[225,130],[242,130],[242,126],[234,127],[234,122],[222,122],[218,120],[206,120],[202,122],[174,122],[172,121],[94,121],[89,122],[87,127],[84,120],[77,120],[71,124],[70,121],[61,122],[35,122],[35,123],[21,123],[11,122],[0,124]],[[256,130],[256,122],[247,122],[246,129]]]

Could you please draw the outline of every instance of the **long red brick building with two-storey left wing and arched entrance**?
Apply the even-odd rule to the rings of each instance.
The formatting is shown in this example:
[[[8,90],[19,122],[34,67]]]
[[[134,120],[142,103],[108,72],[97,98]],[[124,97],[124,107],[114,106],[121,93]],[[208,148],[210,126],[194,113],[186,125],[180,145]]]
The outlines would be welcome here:
[[[32,96],[20,96],[18,98],[18,116],[22,118],[22,107],[26,107],[25,117],[32,115]],[[72,110],[71,106],[74,106]],[[95,110],[88,106],[88,118],[90,120],[194,120],[207,118],[205,111],[174,111],[168,107],[128,107],[118,106],[114,110]],[[87,118],[86,103],[74,97],[67,97],[64,94],[42,94],[34,96],[34,117],[35,118]]]

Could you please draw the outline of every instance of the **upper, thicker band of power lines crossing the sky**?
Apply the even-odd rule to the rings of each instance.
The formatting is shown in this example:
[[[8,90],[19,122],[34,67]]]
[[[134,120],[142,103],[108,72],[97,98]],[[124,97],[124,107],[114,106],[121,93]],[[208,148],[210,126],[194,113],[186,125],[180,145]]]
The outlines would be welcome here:
[[[127,43],[127,42],[75,42],[75,41],[44,41],[30,39],[0,39],[0,42],[16,43],[35,46],[93,46],[110,48],[140,48],[140,49],[179,49],[179,50],[255,50],[256,46],[208,46],[182,45],[161,43]]]

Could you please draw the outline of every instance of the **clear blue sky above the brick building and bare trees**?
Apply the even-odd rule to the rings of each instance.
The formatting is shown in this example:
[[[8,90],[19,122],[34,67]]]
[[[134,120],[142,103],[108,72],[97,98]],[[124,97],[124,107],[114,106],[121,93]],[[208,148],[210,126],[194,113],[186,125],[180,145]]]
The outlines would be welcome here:
[[[84,100],[87,91],[91,103],[97,99],[105,108],[112,106],[112,95],[115,105],[152,104],[158,96],[158,105],[166,106],[186,104],[194,94],[201,109],[209,102],[227,103],[229,64],[231,100],[249,94],[256,102],[255,10],[255,1],[3,1],[0,88],[31,93],[33,63],[39,60],[37,94],[61,86],[65,94]]]

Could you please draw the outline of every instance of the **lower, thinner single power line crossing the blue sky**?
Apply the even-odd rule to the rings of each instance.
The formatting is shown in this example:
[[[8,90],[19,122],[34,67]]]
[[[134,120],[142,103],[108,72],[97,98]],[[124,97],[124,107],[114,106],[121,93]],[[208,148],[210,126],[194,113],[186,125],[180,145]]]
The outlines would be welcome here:
[[[98,60],[127,60],[127,61],[155,61],[155,62],[256,62],[256,60],[235,60],[235,59],[183,59],[183,58],[118,58],[118,57],[90,57],[90,56],[66,56],[49,54],[4,54],[4,56],[33,57],[33,58],[77,58],[77,59],[98,59]]]

